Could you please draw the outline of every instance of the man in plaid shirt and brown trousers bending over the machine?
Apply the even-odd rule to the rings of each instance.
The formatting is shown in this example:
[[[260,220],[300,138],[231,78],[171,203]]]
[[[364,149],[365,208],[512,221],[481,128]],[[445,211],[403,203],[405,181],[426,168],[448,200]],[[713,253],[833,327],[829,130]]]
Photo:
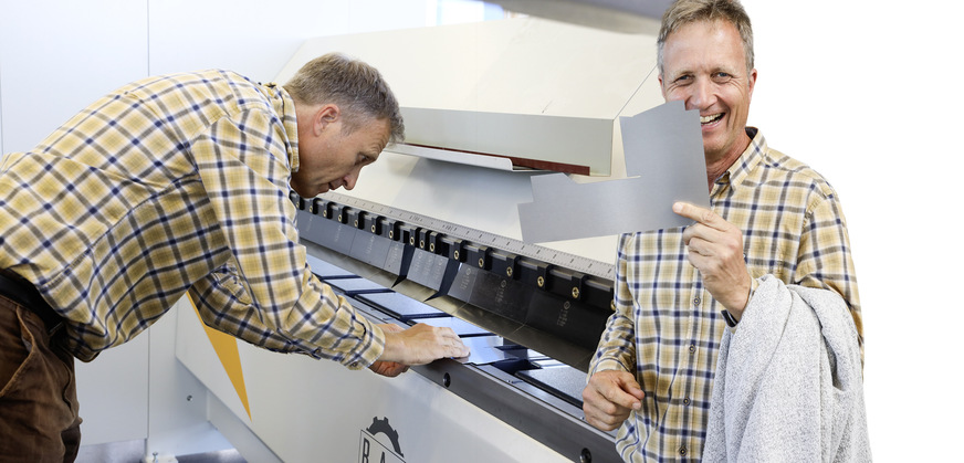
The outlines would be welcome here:
[[[185,293],[211,327],[349,369],[467,356],[449,328],[365,319],[298,243],[290,189],[354,188],[404,130],[380,73],[328,54],[284,86],[222,70],[134,82],[4,157],[0,461],[72,461],[73,358],[129,340]]]

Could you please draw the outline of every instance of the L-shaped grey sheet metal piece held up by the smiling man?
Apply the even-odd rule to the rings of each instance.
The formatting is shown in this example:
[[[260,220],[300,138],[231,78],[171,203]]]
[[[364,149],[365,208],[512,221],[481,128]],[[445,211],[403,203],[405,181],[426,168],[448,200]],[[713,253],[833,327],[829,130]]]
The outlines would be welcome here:
[[[672,212],[687,201],[709,207],[700,115],[669,102],[621,117],[629,178],[576,183],[567,176],[532,178],[533,202],[520,203],[523,240],[543,243],[683,227]]]

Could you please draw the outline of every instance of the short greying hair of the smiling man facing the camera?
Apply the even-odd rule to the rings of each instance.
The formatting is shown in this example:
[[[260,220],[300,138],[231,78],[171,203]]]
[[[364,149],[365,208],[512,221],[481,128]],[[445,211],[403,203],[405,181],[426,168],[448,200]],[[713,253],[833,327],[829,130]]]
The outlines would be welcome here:
[[[667,38],[683,25],[700,21],[730,21],[740,32],[743,52],[746,55],[746,73],[753,70],[753,28],[750,15],[738,0],[677,0],[663,13],[662,25],[657,39],[657,63],[659,73],[663,72],[663,46]]]

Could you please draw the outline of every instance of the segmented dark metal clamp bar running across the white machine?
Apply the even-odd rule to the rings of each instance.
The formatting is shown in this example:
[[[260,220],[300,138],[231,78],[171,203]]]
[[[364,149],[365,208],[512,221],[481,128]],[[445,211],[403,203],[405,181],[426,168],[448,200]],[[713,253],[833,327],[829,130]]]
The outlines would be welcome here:
[[[358,204],[326,198],[305,200],[294,192],[291,199],[306,213],[300,221],[311,227],[304,229],[318,229],[316,219],[327,219],[327,233],[306,233],[305,239],[389,272],[398,277],[396,283],[412,281],[432,290],[433,296],[453,297],[575,345],[584,350],[584,358],[564,361],[576,368],[585,369],[611,314],[611,281],[406,223]],[[388,259],[392,245],[401,259]],[[471,322],[486,325],[485,320]],[[570,352],[570,346],[565,351]],[[545,354],[556,357],[552,351]]]

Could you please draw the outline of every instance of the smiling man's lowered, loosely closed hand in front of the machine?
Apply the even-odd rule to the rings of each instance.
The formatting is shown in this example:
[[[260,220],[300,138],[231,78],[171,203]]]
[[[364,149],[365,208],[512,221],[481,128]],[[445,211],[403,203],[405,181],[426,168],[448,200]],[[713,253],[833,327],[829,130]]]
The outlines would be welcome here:
[[[627,371],[605,370],[593,375],[583,389],[586,422],[602,431],[619,428],[632,410],[642,408],[646,394]]]

